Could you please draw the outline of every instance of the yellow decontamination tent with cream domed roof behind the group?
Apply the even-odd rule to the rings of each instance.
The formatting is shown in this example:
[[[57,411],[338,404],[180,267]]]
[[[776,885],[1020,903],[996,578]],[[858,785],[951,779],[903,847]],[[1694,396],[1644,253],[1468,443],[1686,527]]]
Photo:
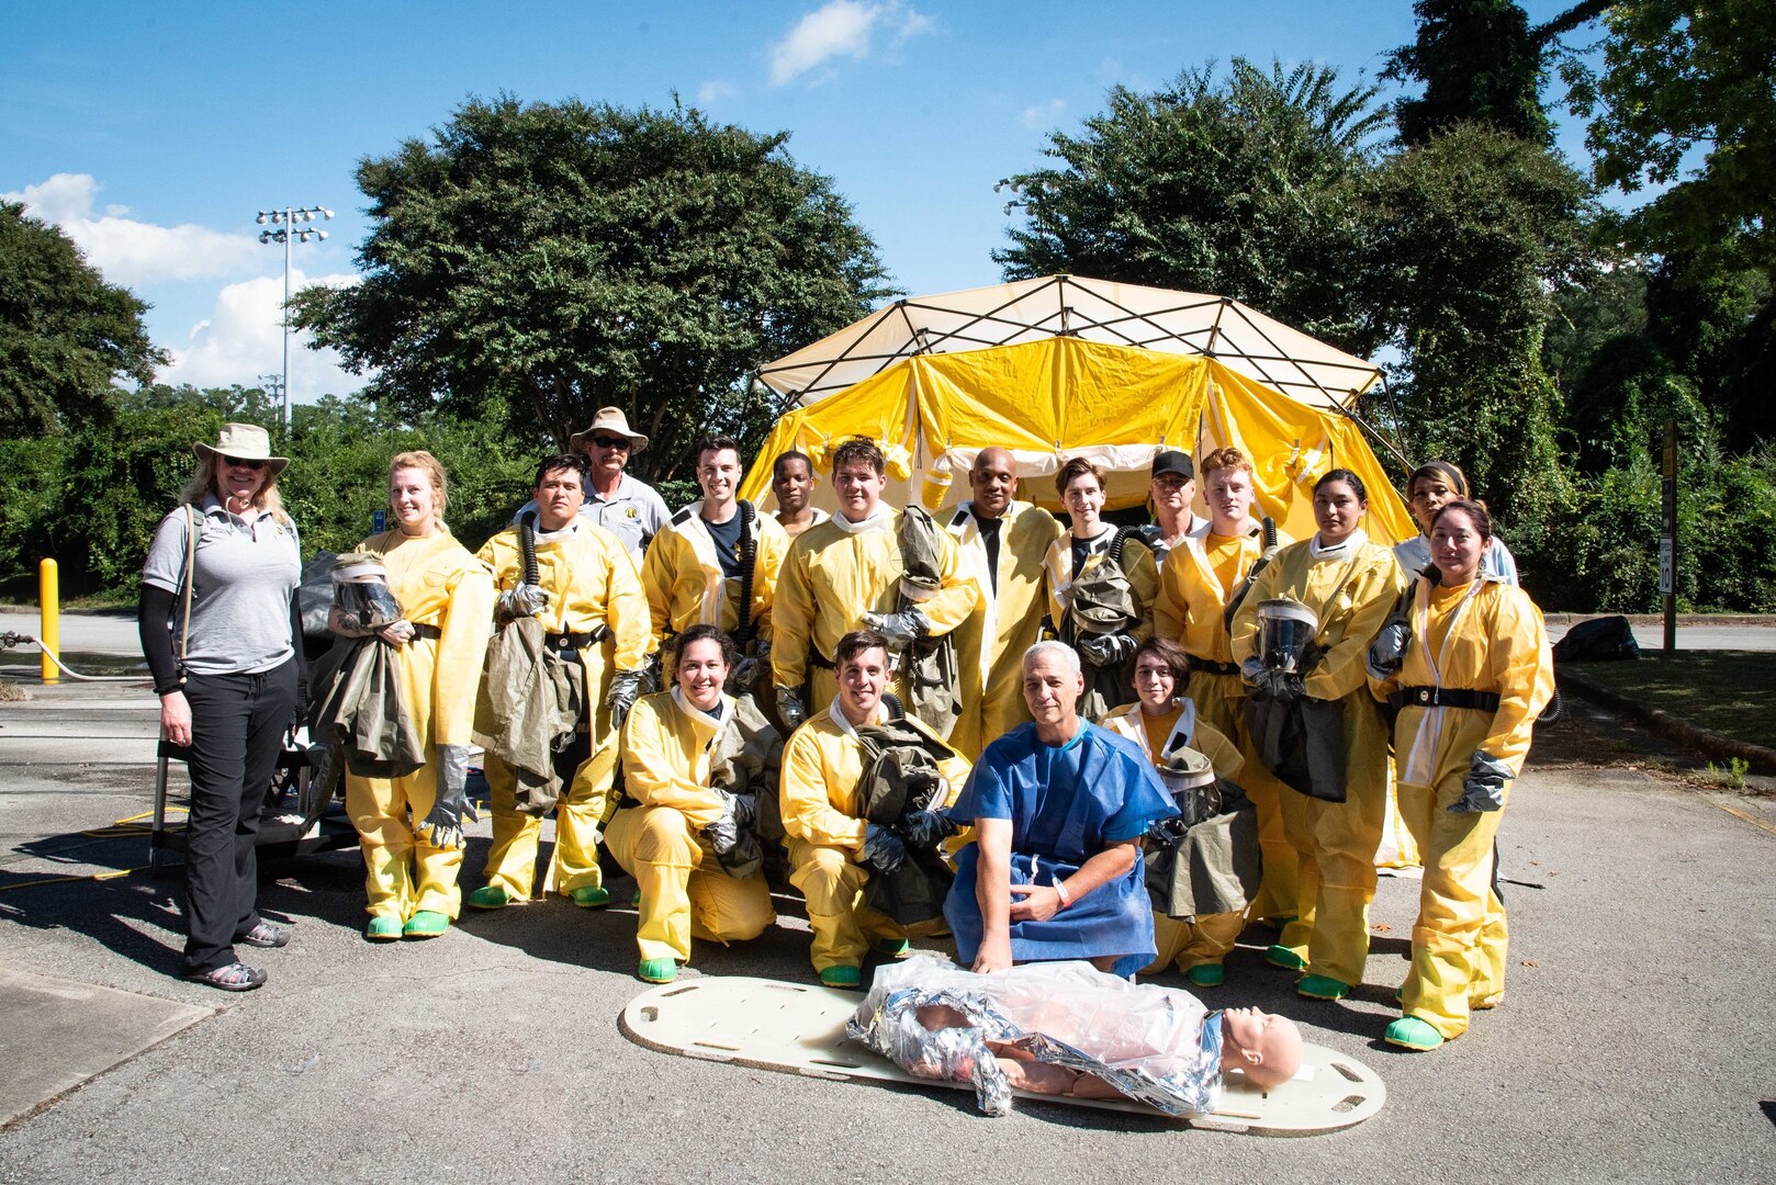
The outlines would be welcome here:
[[[1083,295],[1092,284],[1112,293],[1096,309]],[[1058,316],[1034,316],[1050,300]],[[1195,346],[1195,330],[1177,320],[1211,311],[1215,323]],[[938,313],[948,318],[943,332],[920,323]],[[1233,350],[1229,314],[1259,323],[1268,354]],[[1378,377],[1220,297],[1046,277],[902,300],[760,371],[799,405],[778,419],[741,496],[771,506],[776,457],[799,449],[826,474],[831,449],[863,435],[888,453],[888,499],[899,505],[938,510],[966,497],[968,467],[996,444],[1018,457],[1019,497],[1058,505],[1051,474],[1087,457],[1110,474],[1110,505],[1130,506],[1146,499],[1160,448],[1201,455],[1233,444],[1254,462],[1259,512],[1293,538],[1314,531],[1312,483],[1346,467],[1369,487],[1369,535],[1398,542],[1415,526],[1341,400]],[[1334,391],[1330,380],[1352,386]],[[817,483],[815,501],[831,506],[828,483]]]

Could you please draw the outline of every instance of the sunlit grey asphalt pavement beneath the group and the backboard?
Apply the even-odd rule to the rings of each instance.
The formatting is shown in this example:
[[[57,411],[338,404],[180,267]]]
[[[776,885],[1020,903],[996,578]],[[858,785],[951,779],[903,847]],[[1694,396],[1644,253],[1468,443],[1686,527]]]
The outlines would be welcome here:
[[[147,997],[185,1027],[0,1130],[0,1180],[1776,1180],[1776,799],[1634,767],[1632,746],[1591,764],[1618,737],[1584,707],[1513,792],[1508,993],[1467,1036],[1380,1041],[1412,879],[1382,881],[1350,1000],[1295,997],[1256,927],[1202,993],[1295,1016],[1387,1082],[1376,1117],[1282,1141],[1060,1105],[989,1119],[968,1093],[657,1054],[616,1025],[645,990],[630,910],[549,899],[369,945],[355,851],[266,869],[261,908],[295,929],[254,952],[266,988],[181,982],[176,881],[147,876],[140,835],[105,831],[149,805],[153,704],[34,695],[0,705],[0,968]],[[471,831],[469,887],[487,833]],[[757,942],[696,943],[694,972],[808,982],[799,904],[778,908]],[[218,1011],[192,1023],[178,1006]],[[37,1057],[75,1059],[59,1048]]]

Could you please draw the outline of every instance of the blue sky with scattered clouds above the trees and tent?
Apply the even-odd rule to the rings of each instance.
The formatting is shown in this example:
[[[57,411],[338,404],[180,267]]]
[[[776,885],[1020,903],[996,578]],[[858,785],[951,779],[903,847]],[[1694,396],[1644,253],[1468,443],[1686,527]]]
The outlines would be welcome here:
[[[1566,7],[1531,2],[1531,20]],[[1250,57],[1373,76],[1410,41],[1410,0],[1316,4],[16,4],[0,39],[0,194],[62,226],[153,304],[163,378],[254,384],[281,366],[282,249],[254,215],[330,206],[304,279],[346,282],[368,226],[364,156],[465,96],[671,103],[787,130],[836,181],[909,293],[1000,279],[1011,219],[993,183],[1041,160],[1115,85]],[[1392,91],[1389,91],[1392,94]],[[1566,128],[1568,153],[1582,137]],[[311,400],[359,380],[291,357]]]

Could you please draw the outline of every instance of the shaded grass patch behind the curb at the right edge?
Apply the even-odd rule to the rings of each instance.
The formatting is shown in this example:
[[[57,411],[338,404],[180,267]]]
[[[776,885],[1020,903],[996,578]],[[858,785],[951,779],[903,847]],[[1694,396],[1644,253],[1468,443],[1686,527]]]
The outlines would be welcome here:
[[[1678,650],[1634,663],[1570,663],[1579,679],[1751,744],[1776,744],[1776,654]]]

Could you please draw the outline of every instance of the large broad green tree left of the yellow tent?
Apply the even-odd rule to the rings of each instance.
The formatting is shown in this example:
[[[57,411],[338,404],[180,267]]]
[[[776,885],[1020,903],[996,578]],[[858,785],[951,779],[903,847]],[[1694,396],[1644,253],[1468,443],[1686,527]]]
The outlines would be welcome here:
[[[430,140],[359,165],[364,282],[309,288],[295,320],[407,419],[508,409],[558,448],[614,403],[671,476],[705,430],[757,435],[748,375],[890,295],[831,183],[787,133],[694,108],[471,99]]]

